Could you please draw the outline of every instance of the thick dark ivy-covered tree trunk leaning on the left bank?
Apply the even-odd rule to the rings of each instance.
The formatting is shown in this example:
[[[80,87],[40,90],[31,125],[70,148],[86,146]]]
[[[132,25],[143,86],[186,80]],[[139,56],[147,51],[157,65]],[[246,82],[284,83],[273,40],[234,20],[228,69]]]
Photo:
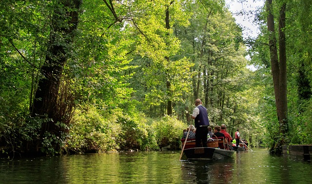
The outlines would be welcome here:
[[[34,117],[47,116],[52,119],[52,121],[42,124],[40,136],[43,136],[45,132],[56,136],[61,134],[62,129],[56,123],[63,122],[63,115],[66,113],[58,112],[60,110],[59,102],[61,102],[59,100],[60,79],[67,59],[66,54],[77,29],[78,10],[81,3],[81,0],[59,0],[58,3],[55,3],[45,63],[40,70],[42,78],[39,80],[35,99],[30,109]],[[67,108],[62,110],[64,109],[71,111]],[[38,147],[38,145],[36,146]]]

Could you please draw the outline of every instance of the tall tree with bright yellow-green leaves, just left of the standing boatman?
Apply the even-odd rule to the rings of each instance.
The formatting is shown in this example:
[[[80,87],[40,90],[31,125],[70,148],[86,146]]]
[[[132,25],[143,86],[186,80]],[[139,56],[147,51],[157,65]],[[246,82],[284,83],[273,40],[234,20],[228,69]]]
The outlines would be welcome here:
[[[187,67],[190,62],[177,54],[182,51],[179,49],[180,41],[173,34],[174,25],[188,24],[182,4],[179,0],[143,3],[143,16],[131,22],[139,31],[134,31],[139,33],[136,52],[142,56],[133,62],[139,65],[135,77],[142,79],[143,99],[153,111],[151,114],[172,115],[175,102],[182,102],[182,94],[189,90],[187,83],[191,74]]]

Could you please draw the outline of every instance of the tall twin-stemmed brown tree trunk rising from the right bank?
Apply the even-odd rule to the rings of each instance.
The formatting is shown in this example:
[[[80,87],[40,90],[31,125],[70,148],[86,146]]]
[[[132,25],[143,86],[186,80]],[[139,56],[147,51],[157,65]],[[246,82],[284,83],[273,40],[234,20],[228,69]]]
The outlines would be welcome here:
[[[285,8],[286,4],[283,4],[280,9],[279,15],[279,61],[276,46],[274,17],[271,11],[272,0],[267,0],[267,24],[269,31],[269,44],[270,44],[270,56],[271,67],[274,85],[274,95],[277,119],[279,122],[279,133],[275,139],[275,145],[272,147],[272,152],[276,154],[282,154],[281,146],[284,143],[284,137],[287,133],[287,65],[286,65],[286,44],[285,44]],[[279,137],[281,136],[281,137]]]

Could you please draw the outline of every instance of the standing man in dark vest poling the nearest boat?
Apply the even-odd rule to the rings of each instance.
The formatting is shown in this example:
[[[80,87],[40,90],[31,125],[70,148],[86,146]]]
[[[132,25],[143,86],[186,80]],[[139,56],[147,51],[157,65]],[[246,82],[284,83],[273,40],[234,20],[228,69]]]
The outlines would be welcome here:
[[[207,147],[207,135],[209,119],[207,109],[201,105],[201,100],[196,99],[192,119],[195,119],[195,143],[196,147]]]

